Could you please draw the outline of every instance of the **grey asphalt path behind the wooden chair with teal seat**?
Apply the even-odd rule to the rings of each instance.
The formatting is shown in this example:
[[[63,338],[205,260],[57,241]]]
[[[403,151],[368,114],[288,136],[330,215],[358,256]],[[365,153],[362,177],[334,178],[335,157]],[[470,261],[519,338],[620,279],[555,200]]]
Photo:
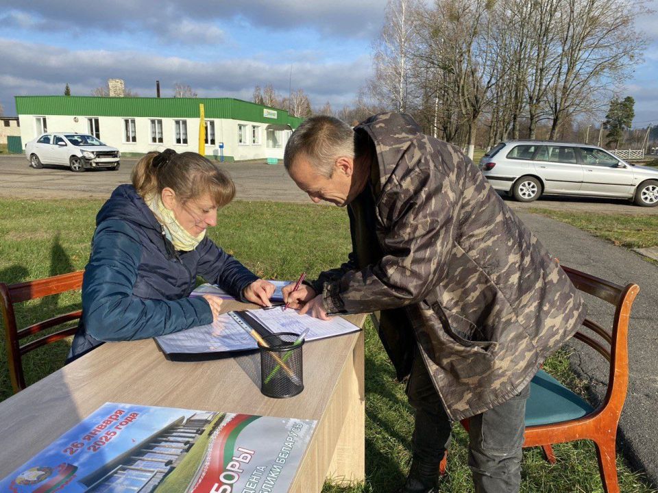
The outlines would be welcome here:
[[[629,325],[629,393],[620,422],[620,441],[626,458],[636,468],[646,470],[650,481],[658,486],[658,267],[633,251],[570,225],[526,212],[519,215],[562,264],[622,286],[629,282],[639,285]],[[589,298],[587,305],[590,318],[611,327],[612,310],[607,303]],[[607,362],[594,351],[583,351],[583,344],[573,345],[578,353],[572,357],[572,366],[589,382],[592,398],[600,402],[607,388]]]

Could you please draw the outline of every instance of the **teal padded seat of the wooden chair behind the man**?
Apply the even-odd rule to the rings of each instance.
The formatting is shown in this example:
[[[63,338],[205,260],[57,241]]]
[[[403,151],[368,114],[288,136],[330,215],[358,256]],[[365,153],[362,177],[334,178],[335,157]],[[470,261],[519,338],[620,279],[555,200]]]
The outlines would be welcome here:
[[[582,418],[593,411],[594,407],[544,370],[539,370],[530,383],[526,427]]]

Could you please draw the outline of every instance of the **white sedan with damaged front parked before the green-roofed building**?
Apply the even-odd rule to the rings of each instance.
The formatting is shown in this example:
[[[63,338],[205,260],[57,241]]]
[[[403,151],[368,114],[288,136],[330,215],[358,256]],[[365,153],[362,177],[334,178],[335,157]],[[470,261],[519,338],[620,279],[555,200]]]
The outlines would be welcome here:
[[[32,168],[44,164],[64,164],[71,171],[89,168],[119,169],[121,153],[116,147],[106,146],[94,136],[63,132],[43,134],[25,144],[25,157]]]

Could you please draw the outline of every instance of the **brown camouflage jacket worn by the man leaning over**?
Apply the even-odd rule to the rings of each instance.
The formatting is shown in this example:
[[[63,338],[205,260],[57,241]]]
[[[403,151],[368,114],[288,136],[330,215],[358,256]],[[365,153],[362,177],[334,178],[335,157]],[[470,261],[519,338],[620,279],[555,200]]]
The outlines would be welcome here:
[[[327,311],[404,307],[450,418],[504,403],[573,335],[583,299],[459,149],[404,114],[373,116],[355,131],[376,149],[370,185],[381,255],[358,268],[352,255],[319,277]],[[380,328],[389,355],[404,330]]]

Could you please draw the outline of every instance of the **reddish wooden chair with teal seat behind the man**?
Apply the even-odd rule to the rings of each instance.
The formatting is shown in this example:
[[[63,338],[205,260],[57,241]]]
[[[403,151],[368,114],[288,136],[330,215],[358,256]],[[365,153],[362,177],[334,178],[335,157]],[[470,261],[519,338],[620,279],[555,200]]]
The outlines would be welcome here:
[[[539,370],[531,381],[530,397],[526,404],[523,446],[541,446],[548,462],[555,464],[551,444],[592,440],[596,445],[603,490],[606,493],[618,493],[617,426],[629,383],[629,317],[639,287],[633,283],[625,287],[619,286],[572,268],[562,268],[578,290],[592,294],[615,307],[611,331],[603,329],[589,318],[583,321],[583,327],[595,333],[602,342],[584,333],[583,327],[574,335],[574,338],[585,342],[608,360],[610,370],[607,393],[605,399],[594,409],[544,370]],[[468,420],[461,423],[468,429]],[[446,457],[439,468],[442,474],[446,470]]]

